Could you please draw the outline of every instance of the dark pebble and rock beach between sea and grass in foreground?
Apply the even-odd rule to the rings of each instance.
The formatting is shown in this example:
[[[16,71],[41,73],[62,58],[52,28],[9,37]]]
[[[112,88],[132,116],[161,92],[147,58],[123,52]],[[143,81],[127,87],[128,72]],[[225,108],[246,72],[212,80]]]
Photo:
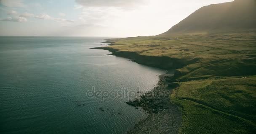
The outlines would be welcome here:
[[[182,110],[171,103],[168,86],[168,74],[160,76],[157,87],[145,93],[141,98],[127,104],[142,107],[149,116],[127,131],[127,134],[178,134],[182,121]],[[172,84],[171,84],[172,85]]]

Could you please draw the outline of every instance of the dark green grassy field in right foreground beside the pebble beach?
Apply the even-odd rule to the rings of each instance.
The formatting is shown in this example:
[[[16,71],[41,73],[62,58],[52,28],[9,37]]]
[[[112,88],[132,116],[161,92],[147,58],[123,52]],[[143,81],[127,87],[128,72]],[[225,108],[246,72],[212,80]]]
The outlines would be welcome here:
[[[253,134],[256,131],[256,76],[179,84],[171,101],[184,108],[182,134],[200,131]]]

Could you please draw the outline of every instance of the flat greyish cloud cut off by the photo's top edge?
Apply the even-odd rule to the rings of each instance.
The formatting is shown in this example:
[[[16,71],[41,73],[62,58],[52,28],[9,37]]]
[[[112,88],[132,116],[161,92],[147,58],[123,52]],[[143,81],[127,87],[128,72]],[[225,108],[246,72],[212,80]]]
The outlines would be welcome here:
[[[75,0],[85,7],[120,7],[133,8],[136,5],[145,4],[147,0]]]

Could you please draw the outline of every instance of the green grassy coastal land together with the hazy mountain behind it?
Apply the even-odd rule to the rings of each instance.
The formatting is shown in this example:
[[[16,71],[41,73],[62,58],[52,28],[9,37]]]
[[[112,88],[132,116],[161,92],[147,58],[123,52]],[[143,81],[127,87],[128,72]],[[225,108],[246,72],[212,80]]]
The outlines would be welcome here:
[[[109,39],[100,49],[175,69],[165,80],[182,108],[180,134],[256,134],[255,16],[256,0],[209,5],[159,36]]]

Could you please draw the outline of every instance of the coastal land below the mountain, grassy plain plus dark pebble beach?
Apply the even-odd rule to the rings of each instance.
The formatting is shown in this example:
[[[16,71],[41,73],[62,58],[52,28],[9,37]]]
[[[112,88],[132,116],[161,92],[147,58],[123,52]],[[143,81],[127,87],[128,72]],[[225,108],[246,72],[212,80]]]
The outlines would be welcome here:
[[[223,40],[227,35],[230,39]],[[254,44],[255,36],[251,33],[227,35],[180,36],[177,40],[157,36],[109,39],[104,42],[110,43],[108,46],[93,48],[108,50],[112,52],[110,55],[128,58],[138,64],[174,70],[172,76],[168,73],[161,75],[164,76],[159,80],[162,84],[140,99],[128,102],[131,106],[142,107],[150,116],[127,133],[172,131],[161,130],[173,126],[165,122],[172,119],[163,115],[165,108],[174,105],[181,109],[182,117],[177,121],[182,124],[172,133],[253,134],[256,118],[249,111],[255,111],[255,103],[251,101],[255,100],[256,64],[255,56],[251,55],[255,49],[244,44]],[[232,39],[237,35],[248,35],[247,40]],[[205,41],[217,43],[205,44]],[[219,44],[225,49],[220,49]],[[230,48],[228,44],[247,51]],[[154,99],[154,93],[166,90],[170,91],[170,98]],[[156,114],[160,116],[152,116]],[[161,122],[169,127],[163,127],[164,123],[162,126],[157,124]]]

